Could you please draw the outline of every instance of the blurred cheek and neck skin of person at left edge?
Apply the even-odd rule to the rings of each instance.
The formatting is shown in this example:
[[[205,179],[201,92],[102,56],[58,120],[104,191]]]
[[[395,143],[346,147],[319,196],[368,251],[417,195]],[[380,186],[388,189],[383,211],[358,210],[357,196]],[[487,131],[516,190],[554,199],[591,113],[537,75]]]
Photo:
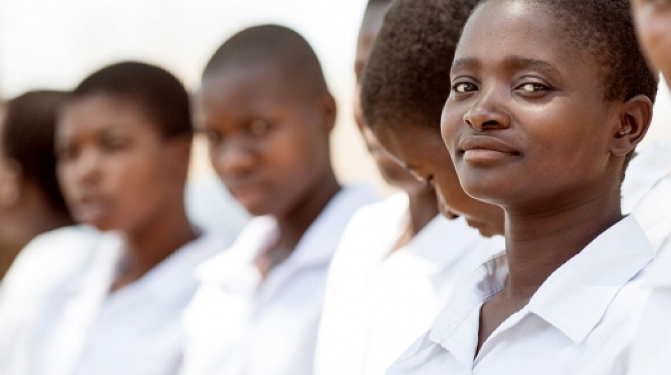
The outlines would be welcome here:
[[[4,123],[0,104],[0,134]],[[0,279],[14,258],[36,236],[68,226],[72,220],[65,212],[54,209],[44,190],[28,179],[17,161],[0,148]]]

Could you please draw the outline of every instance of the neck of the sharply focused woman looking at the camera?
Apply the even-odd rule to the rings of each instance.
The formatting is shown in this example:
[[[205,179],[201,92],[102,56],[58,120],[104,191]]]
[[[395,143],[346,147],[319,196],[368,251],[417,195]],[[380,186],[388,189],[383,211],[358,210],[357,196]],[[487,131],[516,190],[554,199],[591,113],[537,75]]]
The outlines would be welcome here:
[[[530,299],[554,271],[622,219],[619,188],[611,194],[604,191],[592,189],[586,198],[548,210],[506,209],[509,280],[505,297]]]

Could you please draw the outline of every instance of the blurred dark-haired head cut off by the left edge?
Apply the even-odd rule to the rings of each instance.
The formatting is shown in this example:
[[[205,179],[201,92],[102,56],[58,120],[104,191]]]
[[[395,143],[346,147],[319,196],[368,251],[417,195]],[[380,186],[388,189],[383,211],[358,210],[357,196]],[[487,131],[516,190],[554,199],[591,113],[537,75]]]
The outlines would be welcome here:
[[[65,92],[33,91],[0,108],[0,216],[26,206],[24,199],[32,197],[46,203],[53,214],[70,217],[54,157],[56,116],[65,98]],[[26,194],[28,189],[38,196]]]

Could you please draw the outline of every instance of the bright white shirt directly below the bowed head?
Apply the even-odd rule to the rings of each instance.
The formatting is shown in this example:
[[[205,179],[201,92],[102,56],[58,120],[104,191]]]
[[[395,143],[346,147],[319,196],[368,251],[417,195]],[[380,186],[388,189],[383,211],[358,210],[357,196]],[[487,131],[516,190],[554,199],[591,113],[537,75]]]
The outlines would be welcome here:
[[[407,194],[399,193],[348,224],[329,271],[315,374],[384,374],[481,264],[476,249],[488,240],[463,218],[442,215],[391,252],[408,210]]]

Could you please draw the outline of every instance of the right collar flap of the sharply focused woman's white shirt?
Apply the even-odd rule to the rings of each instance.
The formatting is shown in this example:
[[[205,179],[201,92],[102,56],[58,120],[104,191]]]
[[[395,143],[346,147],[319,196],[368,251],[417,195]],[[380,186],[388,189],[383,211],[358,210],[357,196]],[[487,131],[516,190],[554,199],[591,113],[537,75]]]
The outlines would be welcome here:
[[[580,344],[653,258],[648,237],[628,216],[553,273],[529,301],[529,311]]]

